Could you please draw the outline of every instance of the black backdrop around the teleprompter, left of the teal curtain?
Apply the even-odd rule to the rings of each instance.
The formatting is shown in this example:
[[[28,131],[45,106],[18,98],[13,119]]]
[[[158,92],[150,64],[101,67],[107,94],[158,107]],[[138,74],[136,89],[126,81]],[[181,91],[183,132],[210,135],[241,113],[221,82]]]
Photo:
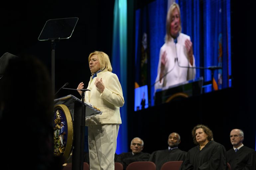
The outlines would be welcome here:
[[[101,50],[111,56],[114,0],[108,1],[25,1],[1,6],[0,55],[32,54],[40,58],[51,74],[51,43],[38,37],[49,19],[77,17],[78,22],[69,39],[56,43],[55,90],[66,82],[76,88],[90,77],[88,56]],[[19,82],[17,82],[19,83]],[[18,84],[17,84],[18,85]],[[76,91],[61,90],[56,98]],[[77,95],[78,94],[78,95]]]

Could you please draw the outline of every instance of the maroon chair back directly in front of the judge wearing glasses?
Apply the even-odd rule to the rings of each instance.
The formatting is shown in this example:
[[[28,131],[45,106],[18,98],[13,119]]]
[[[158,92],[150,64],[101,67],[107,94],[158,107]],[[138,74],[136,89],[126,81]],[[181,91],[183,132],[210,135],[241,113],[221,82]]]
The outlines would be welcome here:
[[[130,163],[126,170],[156,170],[156,165],[154,162],[138,161]]]

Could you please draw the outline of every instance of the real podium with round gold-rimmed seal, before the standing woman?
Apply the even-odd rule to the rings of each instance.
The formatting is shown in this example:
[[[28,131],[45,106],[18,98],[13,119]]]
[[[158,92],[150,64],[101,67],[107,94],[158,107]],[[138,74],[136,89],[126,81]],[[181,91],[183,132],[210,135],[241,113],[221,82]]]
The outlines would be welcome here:
[[[90,103],[84,103],[85,118],[102,114]],[[82,101],[73,95],[54,100],[54,155],[65,161],[72,152],[72,170],[79,170],[82,119]],[[85,121],[85,120],[84,120]],[[83,143],[82,143],[83,144]]]

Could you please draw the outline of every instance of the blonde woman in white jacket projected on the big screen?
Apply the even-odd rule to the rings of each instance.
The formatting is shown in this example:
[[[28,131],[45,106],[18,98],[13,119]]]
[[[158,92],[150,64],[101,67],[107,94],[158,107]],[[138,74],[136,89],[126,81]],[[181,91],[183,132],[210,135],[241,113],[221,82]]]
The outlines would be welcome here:
[[[190,36],[181,33],[181,12],[173,3],[166,17],[165,44],[160,49],[155,90],[194,79],[195,67]],[[182,67],[180,67],[182,66]]]

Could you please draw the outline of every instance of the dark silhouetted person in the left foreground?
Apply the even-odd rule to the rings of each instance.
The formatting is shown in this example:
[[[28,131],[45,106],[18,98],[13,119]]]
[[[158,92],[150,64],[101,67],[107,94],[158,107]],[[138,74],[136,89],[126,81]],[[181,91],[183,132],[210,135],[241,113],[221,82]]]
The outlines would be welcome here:
[[[53,155],[52,118],[53,94],[46,67],[29,56],[9,60],[0,80],[1,166],[62,169],[62,158]]]

